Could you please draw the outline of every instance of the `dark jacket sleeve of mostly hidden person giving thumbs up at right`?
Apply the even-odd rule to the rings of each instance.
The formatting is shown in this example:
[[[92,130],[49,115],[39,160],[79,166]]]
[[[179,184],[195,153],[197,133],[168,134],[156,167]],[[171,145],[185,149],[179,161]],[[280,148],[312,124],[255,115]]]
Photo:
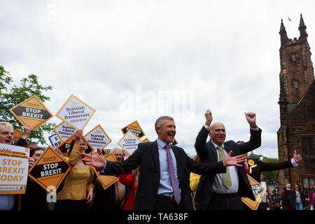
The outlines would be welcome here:
[[[279,170],[279,169],[286,169],[293,167],[291,160],[284,161],[284,162],[262,162],[258,159],[251,159],[248,158],[247,161],[253,160],[253,165],[248,165],[248,175],[253,177],[256,181],[260,183],[260,174],[264,171],[273,171],[273,170]],[[249,167],[251,167],[251,174],[249,173]]]

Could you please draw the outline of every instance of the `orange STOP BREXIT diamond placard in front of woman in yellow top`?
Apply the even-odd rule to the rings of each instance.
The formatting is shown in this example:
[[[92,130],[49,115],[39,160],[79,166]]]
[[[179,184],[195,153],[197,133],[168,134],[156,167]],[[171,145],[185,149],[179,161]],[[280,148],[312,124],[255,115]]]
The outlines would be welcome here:
[[[62,156],[48,146],[29,169],[29,177],[53,195],[69,170]]]

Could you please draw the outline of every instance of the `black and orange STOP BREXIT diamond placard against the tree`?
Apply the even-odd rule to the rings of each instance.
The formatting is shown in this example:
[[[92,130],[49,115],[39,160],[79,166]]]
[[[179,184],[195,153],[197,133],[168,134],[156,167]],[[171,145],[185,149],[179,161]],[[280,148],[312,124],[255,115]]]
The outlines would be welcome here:
[[[24,102],[14,106],[10,109],[10,112],[22,125],[29,125],[33,127],[34,130],[41,127],[41,125],[53,117],[52,113],[48,111],[36,95],[33,95]]]

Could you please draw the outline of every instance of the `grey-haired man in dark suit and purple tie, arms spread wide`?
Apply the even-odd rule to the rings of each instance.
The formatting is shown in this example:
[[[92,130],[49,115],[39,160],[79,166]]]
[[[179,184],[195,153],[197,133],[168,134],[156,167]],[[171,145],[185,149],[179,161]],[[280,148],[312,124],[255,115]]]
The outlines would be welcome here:
[[[197,163],[189,158],[183,148],[172,146],[176,134],[173,118],[163,116],[155,122],[158,139],[141,143],[124,162],[105,161],[97,149],[97,155],[85,155],[86,165],[103,169],[103,174],[125,174],[140,165],[139,185],[134,209],[193,209],[189,188],[188,171],[195,174],[226,172],[225,167],[241,166],[243,155],[230,157],[220,162]]]

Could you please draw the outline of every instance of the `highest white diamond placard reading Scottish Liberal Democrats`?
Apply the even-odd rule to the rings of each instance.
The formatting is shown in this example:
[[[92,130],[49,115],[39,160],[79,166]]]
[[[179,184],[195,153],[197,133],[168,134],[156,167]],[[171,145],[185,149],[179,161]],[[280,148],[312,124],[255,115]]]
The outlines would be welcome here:
[[[71,94],[61,109],[56,113],[56,117],[68,123],[78,130],[83,130],[85,125],[94,115],[95,110],[85,104],[78,97]]]

